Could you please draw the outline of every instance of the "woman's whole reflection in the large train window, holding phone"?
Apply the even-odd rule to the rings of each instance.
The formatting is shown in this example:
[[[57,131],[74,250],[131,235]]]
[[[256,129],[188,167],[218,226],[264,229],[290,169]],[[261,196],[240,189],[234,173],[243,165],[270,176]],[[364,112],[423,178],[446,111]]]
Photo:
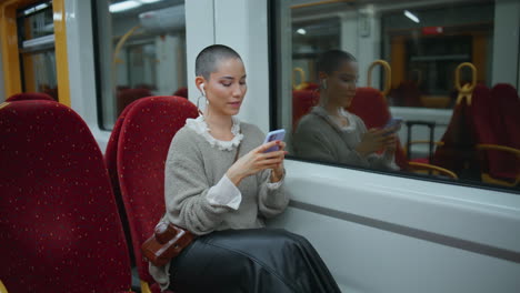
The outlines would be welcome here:
[[[318,59],[318,78],[320,103],[298,123],[293,140],[296,154],[326,162],[397,170],[394,129],[367,130],[359,117],[346,110],[356,97],[356,58],[341,50],[324,52]]]

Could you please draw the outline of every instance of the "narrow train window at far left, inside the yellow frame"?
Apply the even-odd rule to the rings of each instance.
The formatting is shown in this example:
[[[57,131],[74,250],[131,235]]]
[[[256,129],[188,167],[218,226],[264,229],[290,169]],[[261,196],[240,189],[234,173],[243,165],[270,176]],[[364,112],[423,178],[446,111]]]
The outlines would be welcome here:
[[[22,90],[58,100],[52,1],[17,11]]]

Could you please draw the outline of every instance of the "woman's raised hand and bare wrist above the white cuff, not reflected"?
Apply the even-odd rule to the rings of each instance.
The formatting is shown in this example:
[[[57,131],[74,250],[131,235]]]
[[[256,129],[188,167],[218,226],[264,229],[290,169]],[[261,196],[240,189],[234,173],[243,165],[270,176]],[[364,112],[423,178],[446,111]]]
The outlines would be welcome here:
[[[264,151],[274,145],[281,146],[281,150],[264,153]],[[246,155],[238,159],[237,162],[229,168],[228,172],[226,172],[226,175],[228,175],[229,180],[238,186],[242,179],[249,175],[256,174],[266,169],[277,168],[283,161],[284,156],[286,151],[283,150],[283,142],[271,141],[253,149]]]

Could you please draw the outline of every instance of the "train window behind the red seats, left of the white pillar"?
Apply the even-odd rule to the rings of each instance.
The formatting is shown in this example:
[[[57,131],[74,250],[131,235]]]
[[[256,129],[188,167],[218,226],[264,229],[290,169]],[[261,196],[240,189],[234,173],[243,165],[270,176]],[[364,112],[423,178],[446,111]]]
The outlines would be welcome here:
[[[93,3],[102,129],[112,129],[121,111],[137,99],[187,95],[183,0]]]

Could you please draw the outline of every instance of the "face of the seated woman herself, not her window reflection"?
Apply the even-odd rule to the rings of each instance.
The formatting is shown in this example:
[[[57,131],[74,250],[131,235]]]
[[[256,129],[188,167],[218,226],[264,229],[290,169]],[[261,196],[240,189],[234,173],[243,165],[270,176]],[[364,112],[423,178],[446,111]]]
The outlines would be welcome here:
[[[230,58],[220,61],[217,71],[210,74],[206,83],[210,112],[223,115],[238,114],[248,90],[246,69],[240,59]]]

